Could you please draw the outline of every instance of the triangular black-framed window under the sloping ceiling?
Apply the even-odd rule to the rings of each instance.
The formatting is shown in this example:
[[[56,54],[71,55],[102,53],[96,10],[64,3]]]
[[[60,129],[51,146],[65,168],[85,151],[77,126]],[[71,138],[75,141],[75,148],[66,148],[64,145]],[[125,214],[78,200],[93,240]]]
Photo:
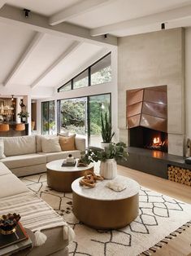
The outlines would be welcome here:
[[[111,82],[111,52],[59,87],[58,92]]]

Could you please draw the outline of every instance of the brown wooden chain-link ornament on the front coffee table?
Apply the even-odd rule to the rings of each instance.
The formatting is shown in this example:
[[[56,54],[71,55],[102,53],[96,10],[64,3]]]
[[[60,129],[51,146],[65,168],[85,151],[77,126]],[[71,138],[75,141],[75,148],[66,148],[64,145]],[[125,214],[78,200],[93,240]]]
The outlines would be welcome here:
[[[98,180],[102,181],[103,177],[100,175],[94,174],[93,171],[87,170],[85,171],[85,177],[80,179],[79,183],[80,183],[80,186],[94,188]]]

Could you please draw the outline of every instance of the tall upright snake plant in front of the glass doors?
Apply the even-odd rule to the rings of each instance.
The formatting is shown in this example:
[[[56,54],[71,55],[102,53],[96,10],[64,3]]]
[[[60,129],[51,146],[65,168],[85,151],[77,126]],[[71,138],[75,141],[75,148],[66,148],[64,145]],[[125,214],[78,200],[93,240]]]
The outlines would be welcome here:
[[[102,121],[102,141],[104,143],[111,143],[111,139],[115,135],[115,132],[112,132],[112,127],[111,127],[111,121],[110,118],[107,115],[107,112],[103,116],[101,113],[101,121]]]

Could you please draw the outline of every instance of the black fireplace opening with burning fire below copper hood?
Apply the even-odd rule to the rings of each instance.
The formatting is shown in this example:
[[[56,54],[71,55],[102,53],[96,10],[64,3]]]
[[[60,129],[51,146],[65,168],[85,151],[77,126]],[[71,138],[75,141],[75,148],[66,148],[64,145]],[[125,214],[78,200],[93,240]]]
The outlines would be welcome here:
[[[138,126],[128,130],[128,137],[130,147],[167,152],[166,132]]]

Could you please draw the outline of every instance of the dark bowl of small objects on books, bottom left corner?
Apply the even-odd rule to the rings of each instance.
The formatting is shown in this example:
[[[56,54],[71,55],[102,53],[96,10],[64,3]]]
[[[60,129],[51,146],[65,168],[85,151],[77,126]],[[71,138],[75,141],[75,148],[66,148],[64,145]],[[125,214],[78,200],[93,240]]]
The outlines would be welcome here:
[[[20,221],[20,214],[2,215],[0,218],[0,232],[3,235],[10,235],[15,232],[15,227]]]

